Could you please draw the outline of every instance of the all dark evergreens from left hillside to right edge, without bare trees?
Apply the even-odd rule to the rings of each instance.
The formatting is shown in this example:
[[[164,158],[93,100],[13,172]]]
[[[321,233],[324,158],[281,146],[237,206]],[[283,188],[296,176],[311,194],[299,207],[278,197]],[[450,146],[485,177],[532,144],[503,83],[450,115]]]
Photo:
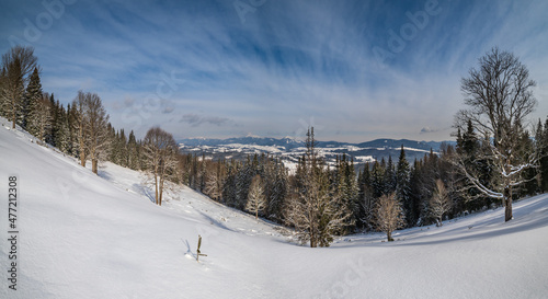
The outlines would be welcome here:
[[[0,113],[2,116],[9,116],[5,110]],[[53,93],[43,92],[36,67],[23,94],[16,123],[39,140],[67,154],[79,157],[73,125],[77,115],[76,105],[68,104],[65,108]],[[110,149],[106,160],[133,170],[146,170],[145,157],[141,153],[142,142],[136,139],[134,131],[126,136],[124,129],[116,130],[111,124],[107,130]],[[548,140],[548,119],[544,126],[538,122],[534,139],[524,134],[524,150],[530,149],[534,140]],[[482,149],[482,142],[487,141],[477,137],[471,126],[468,126],[464,134],[457,134],[457,150],[468,152],[469,157]],[[546,148],[543,150],[547,151]],[[458,177],[454,172],[450,163],[454,151],[452,146],[443,147],[439,153],[430,152],[422,160],[414,161],[411,166],[402,148],[397,163],[392,162],[391,157],[388,161],[375,161],[366,164],[357,175],[352,158],[345,154],[338,158],[333,169],[329,170],[329,182],[352,210],[349,222],[354,226],[349,226],[349,229],[352,231],[373,228],[376,200],[392,192],[403,205],[408,227],[431,223],[433,219],[429,212],[429,199],[432,197],[436,179],[442,179],[446,185],[452,186],[449,191],[453,208],[447,217],[499,204],[482,197],[478,191],[469,189],[463,193],[458,189],[457,186],[464,177]],[[247,205],[251,181],[255,175],[260,175],[265,184],[264,195],[267,198],[266,208],[261,215],[281,223],[284,222],[286,197],[297,189],[295,185],[302,166],[300,159],[296,173],[289,175],[279,159],[265,154],[250,156],[246,161],[210,161],[205,157],[181,154],[179,161],[179,171],[171,176],[172,181],[184,183],[216,200],[242,210]],[[477,168],[482,173],[480,176],[484,183],[489,185],[489,161],[478,163]],[[516,191],[515,197],[548,191],[547,168],[548,159],[543,158],[537,171],[527,172],[530,180]]]

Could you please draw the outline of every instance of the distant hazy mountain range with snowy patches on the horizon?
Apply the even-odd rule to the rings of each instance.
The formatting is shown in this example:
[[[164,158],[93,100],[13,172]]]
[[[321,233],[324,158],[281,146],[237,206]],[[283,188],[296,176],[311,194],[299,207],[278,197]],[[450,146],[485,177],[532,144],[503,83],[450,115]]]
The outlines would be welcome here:
[[[189,138],[179,140],[180,150],[183,153],[205,154],[212,159],[244,159],[248,154],[271,154],[281,157],[290,168],[305,151],[305,141],[294,138],[266,138],[266,137],[239,137],[228,139]],[[454,141],[444,141],[455,145]],[[433,150],[437,152],[443,142],[414,141],[408,139],[376,139],[362,143],[349,143],[338,141],[317,141],[318,152],[330,163],[335,161],[336,156],[346,153],[354,159],[356,164],[374,160],[398,159],[401,146],[406,150],[407,159],[422,159],[425,153]]]

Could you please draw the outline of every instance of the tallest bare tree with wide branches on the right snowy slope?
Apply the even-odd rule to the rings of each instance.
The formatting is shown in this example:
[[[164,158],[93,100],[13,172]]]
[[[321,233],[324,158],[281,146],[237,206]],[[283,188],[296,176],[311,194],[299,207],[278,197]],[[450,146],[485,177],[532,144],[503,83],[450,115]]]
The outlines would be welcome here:
[[[465,163],[466,157],[459,157],[457,165],[481,193],[502,200],[505,221],[512,219],[512,188],[523,184],[522,173],[538,163],[536,152],[525,156],[520,150],[523,125],[537,104],[533,95],[535,84],[517,57],[498,48],[481,57],[479,69],[472,68],[460,84],[469,108],[456,115],[456,126],[464,128],[470,122],[486,137],[487,149],[476,159],[493,162],[495,175],[491,186],[473,171],[473,161]]]

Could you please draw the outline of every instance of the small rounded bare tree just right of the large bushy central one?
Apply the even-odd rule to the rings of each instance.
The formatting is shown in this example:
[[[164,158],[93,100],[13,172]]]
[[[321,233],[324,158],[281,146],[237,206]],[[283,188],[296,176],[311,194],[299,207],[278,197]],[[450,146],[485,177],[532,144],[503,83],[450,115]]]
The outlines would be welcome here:
[[[396,195],[383,195],[377,202],[374,217],[375,227],[386,232],[388,242],[393,241],[392,232],[406,226],[406,216]]]

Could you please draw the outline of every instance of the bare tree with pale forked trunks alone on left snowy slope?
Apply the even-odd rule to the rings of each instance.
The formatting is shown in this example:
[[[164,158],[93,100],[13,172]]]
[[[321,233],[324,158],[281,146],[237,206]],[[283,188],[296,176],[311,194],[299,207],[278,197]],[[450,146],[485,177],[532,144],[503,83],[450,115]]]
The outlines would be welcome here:
[[[173,135],[152,127],[147,131],[142,143],[147,169],[153,177],[156,204],[161,206],[164,182],[176,166],[176,142]]]

